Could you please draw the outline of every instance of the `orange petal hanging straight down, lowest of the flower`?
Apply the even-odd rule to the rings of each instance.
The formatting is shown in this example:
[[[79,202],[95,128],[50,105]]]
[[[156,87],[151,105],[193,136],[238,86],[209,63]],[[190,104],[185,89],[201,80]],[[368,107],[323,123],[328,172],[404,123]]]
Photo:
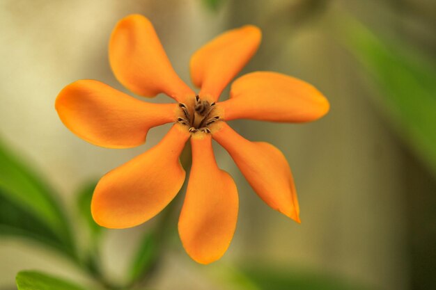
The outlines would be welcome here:
[[[238,190],[227,172],[220,170],[210,134],[195,134],[192,169],[178,223],[183,247],[195,261],[209,264],[221,258],[238,220]]]

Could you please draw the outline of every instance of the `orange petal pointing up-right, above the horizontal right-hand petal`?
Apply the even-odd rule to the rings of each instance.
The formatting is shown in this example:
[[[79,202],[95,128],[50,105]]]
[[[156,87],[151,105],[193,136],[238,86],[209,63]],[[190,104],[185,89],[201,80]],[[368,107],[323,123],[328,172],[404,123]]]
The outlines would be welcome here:
[[[191,77],[201,87],[202,99],[217,101],[229,81],[254,56],[261,37],[260,29],[246,25],[219,35],[196,51],[191,58]]]

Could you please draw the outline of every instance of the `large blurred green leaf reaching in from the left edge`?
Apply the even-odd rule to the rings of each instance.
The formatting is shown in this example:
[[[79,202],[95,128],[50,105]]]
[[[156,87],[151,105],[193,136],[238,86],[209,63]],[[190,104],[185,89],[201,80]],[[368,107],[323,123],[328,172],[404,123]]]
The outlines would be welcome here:
[[[8,231],[3,230],[3,233],[22,232],[29,233],[28,236],[31,237],[52,232],[47,236],[47,240],[53,240],[53,236],[56,236],[56,241],[63,244],[63,251],[72,255],[74,245],[70,225],[59,202],[55,200],[54,193],[1,143],[0,195],[3,199],[3,214],[0,223],[3,223],[3,228],[8,227]],[[8,215],[6,213],[12,216],[20,213],[22,218],[15,223],[14,219],[6,216]],[[33,224],[39,226],[33,227],[31,226]],[[44,230],[39,233],[38,230],[42,228]],[[42,240],[38,239],[38,241]]]

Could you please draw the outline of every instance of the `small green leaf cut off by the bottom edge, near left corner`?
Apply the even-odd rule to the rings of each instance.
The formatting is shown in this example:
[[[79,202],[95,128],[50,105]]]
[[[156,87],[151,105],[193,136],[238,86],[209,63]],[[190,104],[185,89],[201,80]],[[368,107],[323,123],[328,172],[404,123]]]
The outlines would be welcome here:
[[[85,290],[72,282],[36,271],[22,271],[15,280],[18,290]]]

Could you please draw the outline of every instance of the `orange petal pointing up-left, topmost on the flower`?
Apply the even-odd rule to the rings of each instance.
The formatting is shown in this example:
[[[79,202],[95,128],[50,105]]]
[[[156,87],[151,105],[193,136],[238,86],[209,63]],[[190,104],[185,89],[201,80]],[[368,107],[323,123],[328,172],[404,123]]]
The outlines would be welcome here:
[[[116,24],[109,61],[118,81],[138,95],[164,92],[178,102],[195,95],[174,72],[153,24],[142,15],[127,16]]]

